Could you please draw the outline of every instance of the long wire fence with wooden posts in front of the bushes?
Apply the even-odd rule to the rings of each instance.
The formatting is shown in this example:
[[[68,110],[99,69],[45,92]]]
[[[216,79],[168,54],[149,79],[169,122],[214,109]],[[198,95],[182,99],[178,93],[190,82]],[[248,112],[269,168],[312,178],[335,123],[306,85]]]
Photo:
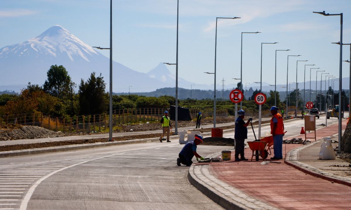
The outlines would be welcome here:
[[[134,108],[117,109],[112,113],[113,126],[139,123],[146,121],[159,121],[164,115],[164,108]],[[169,111],[169,110],[168,110]],[[213,117],[213,109],[190,109],[192,119],[201,111],[203,118]],[[172,113],[170,113],[172,115]],[[226,109],[216,110],[216,117],[227,117]],[[108,128],[109,113],[98,115],[79,115],[74,117],[56,117],[53,115],[34,112],[15,115],[0,115],[0,122],[5,124],[20,124],[25,126],[39,126],[63,133],[82,133],[104,131]]]

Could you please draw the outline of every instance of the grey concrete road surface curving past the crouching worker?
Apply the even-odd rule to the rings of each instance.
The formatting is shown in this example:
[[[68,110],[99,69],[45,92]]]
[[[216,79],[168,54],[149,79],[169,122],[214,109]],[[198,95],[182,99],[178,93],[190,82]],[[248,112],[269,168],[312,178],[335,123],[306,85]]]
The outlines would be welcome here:
[[[285,137],[299,134],[303,123],[287,121]],[[317,129],[322,123],[324,116]],[[269,130],[261,128],[263,135]],[[0,209],[222,209],[188,182],[188,167],[176,165],[182,147],[151,142],[0,158]],[[199,145],[198,153],[225,149],[232,147]]]

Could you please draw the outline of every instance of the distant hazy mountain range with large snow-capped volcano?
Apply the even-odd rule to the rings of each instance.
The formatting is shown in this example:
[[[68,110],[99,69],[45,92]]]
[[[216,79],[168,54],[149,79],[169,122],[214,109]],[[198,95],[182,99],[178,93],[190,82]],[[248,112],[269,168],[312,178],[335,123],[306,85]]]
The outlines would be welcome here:
[[[81,79],[85,81],[92,72],[101,73],[107,83],[108,89],[110,78],[110,58],[99,53],[86,43],[69,33],[65,28],[56,25],[39,36],[25,42],[0,48],[0,91],[14,90],[19,92],[25,88],[28,82],[32,84],[44,84],[47,79],[47,70],[51,65],[62,65],[68,71],[73,82],[79,84]],[[125,92],[129,86],[131,92],[151,92],[156,89],[175,87],[176,76],[173,75],[166,65],[159,63],[148,73],[137,72],[121,63],[113,61],[113,92]],[[178,87],[198,90],[213,90],[213,84],[198,84],[189,82],[178,77]],[[317,82],[319,89],[319,82]],[[262,83],[262,90],[269,91],[273,87]],[[293,83],[291,84],[293,88]],[[303,85],[299,84],[301,89]],[[225,84],[225,90],[232,90],[237,84]],[[286,84],[277,84],[278,91],[284,91]],[[314,89],[316,82],[312,81]],[[255,90],[259,86],[247,86]],[[306,89],[309,82],[306,82]],[[313,88],[314,87],[314,88]],[[322,85],[322,89],[324,85]],[[343,78],[343,88],[349,89],[349,78]],[[245,89],[245,87],[244,87]],[[216,90],[221,91],[221,84],[216,84]]]

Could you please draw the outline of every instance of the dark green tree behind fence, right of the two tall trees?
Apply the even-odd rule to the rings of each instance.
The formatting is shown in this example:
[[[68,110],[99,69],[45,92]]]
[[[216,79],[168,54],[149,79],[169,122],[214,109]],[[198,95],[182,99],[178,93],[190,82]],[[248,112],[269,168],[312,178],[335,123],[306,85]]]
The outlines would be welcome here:
[[[84,82],[81,79],[79,85],[79,105],[81,115],[101,114],[108,107],[108,100],[105,94],[106,84],[104,77],[95,76],[95,72]]]

